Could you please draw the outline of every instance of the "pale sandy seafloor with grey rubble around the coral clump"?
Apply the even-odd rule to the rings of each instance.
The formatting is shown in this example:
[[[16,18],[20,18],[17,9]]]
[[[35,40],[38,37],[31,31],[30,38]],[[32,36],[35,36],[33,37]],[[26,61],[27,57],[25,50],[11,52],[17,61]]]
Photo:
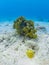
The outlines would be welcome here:
[[[37,39],[19,37],[13,23],[0,23],[0,65],[49,65],[49,22],[35,22]],[[43,29],[40,27],[43,27]],[[26,50],[35,46],[35,56],[29,59]]]

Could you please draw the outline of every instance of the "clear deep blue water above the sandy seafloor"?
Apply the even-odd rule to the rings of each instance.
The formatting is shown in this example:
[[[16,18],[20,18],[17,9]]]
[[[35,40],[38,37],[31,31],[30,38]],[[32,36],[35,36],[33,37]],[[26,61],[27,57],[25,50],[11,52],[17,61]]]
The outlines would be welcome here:
[[[0,0],[0,20],[18,16],[29,19],[49,19],[49,0]]]

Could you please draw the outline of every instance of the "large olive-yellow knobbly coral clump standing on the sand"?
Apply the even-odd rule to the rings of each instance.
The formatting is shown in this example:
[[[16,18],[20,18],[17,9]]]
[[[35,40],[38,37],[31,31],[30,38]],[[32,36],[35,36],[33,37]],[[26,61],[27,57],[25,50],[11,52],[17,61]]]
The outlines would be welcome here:
[[[23,16],[14,21],[13,28],[16,29],[20,35],[34,39],[37,38],[37,30],[34,27],[34,22],[32,20],[26,20]]]

